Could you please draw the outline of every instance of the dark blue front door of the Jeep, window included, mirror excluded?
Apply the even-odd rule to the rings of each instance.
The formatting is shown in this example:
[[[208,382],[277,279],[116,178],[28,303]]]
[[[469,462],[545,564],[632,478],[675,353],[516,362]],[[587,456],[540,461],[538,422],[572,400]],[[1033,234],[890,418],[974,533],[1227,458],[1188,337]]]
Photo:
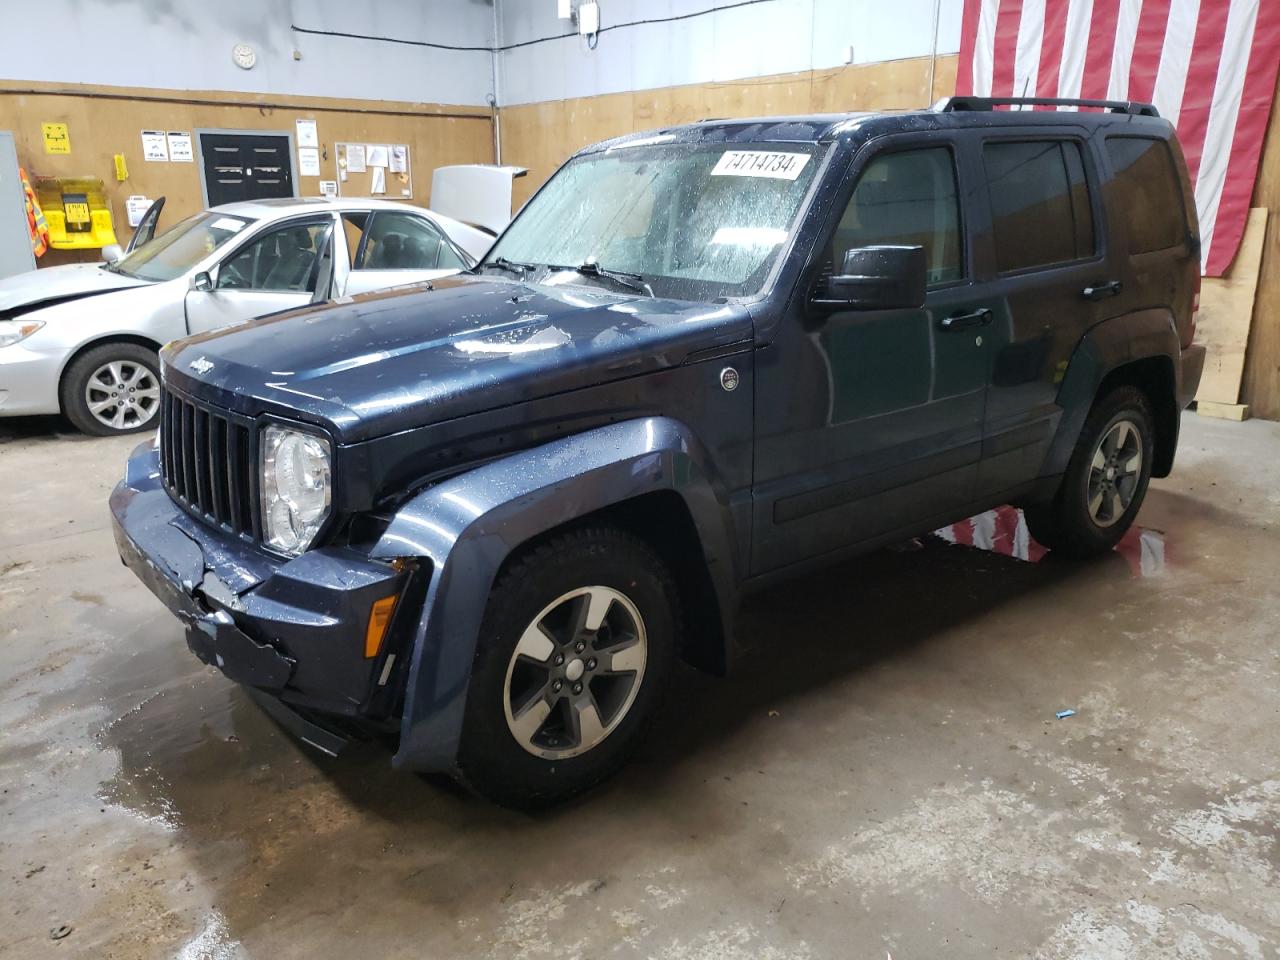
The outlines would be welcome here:
[[[868,148],[818,248],[820,285],[847,248],[924,246],[922,308],[815,320],[805,294],[756,352],[753,573],[919,532],[973,498],[991,310],[970,279],[955,160],[937,137]]]

